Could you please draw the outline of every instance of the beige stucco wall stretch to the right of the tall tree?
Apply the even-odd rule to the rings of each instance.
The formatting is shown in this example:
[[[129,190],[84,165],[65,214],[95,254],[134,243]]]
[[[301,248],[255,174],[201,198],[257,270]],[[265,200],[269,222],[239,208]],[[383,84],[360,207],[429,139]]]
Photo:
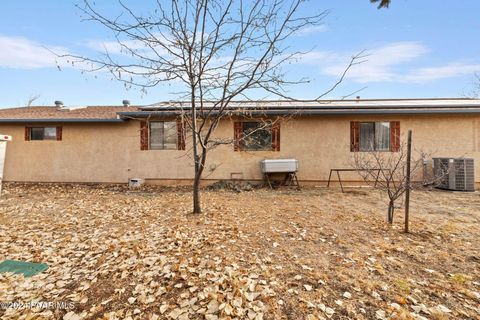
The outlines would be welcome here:
[[[232,172],[243,172],[245,179],[261,179],[259,162],[264,158],[296,158],[303,181],[325,182],[330,169],[348,168],[350,152],[350,121],[400,121],[401,139],[413,131],[413,148],[433,157],[473,157],[475,181],[480,180],[480,117],[471,116],[362,116],[303,117],[287,120],[281,125],[280,152],[233,152],[231,146],[212,152],[210,165],[218,173],[210,177],[225,179]],[[224,122],[217,134],[231,137],[233,123]],[[359,181],[356,173],[342,173],[342,179]]]

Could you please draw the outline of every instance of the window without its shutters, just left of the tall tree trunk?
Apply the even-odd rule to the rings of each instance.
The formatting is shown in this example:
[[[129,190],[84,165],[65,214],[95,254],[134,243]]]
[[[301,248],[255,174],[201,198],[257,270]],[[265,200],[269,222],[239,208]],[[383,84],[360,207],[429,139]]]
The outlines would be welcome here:
[[[150,150],[177,149],[177,122],[150,122]]]

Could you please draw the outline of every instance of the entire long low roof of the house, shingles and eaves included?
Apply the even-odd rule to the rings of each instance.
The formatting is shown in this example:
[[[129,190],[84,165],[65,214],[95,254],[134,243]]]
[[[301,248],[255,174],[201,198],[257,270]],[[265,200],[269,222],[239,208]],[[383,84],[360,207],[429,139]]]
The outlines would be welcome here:
[[[206,110],[214,107],[205,102]],[[147,106],[36,106],[0,109],[0,123],[123,122],[130,118],[175,116],[191,108],[189,102],[160,102]],[[216,111],[214,110],[213,113]],[[480,99],[355,99],[233,101],[230,115],[415,115],[480,114]]]

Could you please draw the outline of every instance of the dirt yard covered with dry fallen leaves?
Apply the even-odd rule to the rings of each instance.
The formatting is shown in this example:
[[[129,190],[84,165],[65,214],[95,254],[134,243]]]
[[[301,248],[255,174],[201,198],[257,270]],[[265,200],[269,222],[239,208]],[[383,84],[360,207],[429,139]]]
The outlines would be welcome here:
[[[0,274],[0,318],[480,319],[480,194],[412,197],[406,235],[367,188],[8,185],[0,261],[50,267]]]

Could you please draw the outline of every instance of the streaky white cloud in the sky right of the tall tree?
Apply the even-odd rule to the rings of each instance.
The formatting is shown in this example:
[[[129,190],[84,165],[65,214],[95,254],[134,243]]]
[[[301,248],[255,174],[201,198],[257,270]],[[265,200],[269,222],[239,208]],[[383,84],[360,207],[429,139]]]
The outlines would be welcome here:
[[[416,67],[428,48],[419,42],[395,42],[366,52],[361,64],[353,66],[347,78],[359,83],[415,82],[427,83],[480,71],[480,64],[449,62],[440,66]],[[334,52],[314,51],[306,54],[300,63],[316,64],[322,73],[339,76],[345,70],[350,56]]]

